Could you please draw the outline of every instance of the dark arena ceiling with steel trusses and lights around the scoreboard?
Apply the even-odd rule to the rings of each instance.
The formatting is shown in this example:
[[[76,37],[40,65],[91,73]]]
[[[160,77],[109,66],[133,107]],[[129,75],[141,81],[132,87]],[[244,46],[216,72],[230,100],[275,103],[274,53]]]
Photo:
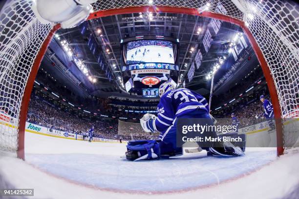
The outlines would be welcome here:
[[[141,15],[144,16],[143,19],[140,19]],[[74,87],[73,90],[78,90],[76,85],[83,82],[86,87],[86,89],[82,89],[81,86],[83,91],[88,90],[88,94],[108,97],[113,95],[113,93],[120,93],[120,85],[117,78],[122,75],[120,70],[120,42],[122,39],[143,35],[169,36],[179,39],[179,75],[187,79],[188,70],[195,57],[194,52],[197,52],[197,49],[202,47],[202,40],[210,20],[210,18],[200,16],[173,13],[122,14],[88,20],[78,27],[61,29],[56,36],[63,38],[63,40],[67,41],[68,46],[76,49],[77,55],[80,54],[79,56],[83,58],[85,66],[88,67],[89,72],[96,79],[94,82],[78,80],[72,85]],[[88,34],[82,34],[82,26],[86,27],[86,33]],[[206,79],[206,74],[211,70],[214,61],[223,55],[224,50],[238,32],[241,32],[240,27],[227,22],[222,23],[219,32],[213,38],[213,43],[208,53],[203,55],[199,70],[195,71],[193,80],[186,84],[187,88],[200,91],[203,95],[209,93],[210,83]],[[107,78],[107,69],[103,70],[99,67],[99,63],[87,44],[90,35],[96,39],[97,49],[100,49],[105,57],[111,80]],[[43,60],[43,67],[46,70],[50,70],[50,73],[55,77],[67,76],[64,70],[55,70],[49,64],[53,60],[51,55],[54,53],[58,57],[67,56],[63,55],[65,54],[64,51],[47,53]],[[225,74],[229,67],[226,66],[223,69],[219,69],[219,72],[217,72],[218,79]],[[61,78],[61,80],[65,81],[66,79]]]

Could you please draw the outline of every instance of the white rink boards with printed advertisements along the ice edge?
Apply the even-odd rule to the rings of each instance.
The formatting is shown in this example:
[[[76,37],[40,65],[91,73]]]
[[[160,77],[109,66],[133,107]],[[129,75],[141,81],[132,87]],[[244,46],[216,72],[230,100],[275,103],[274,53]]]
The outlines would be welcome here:
[[[3,125],[0,130],[5,133],[15,131],[17,128],[17,119],[9,117],[8,115],[0,114],[0,124]],[[286,119],[283,122],[284,138],[287,147],[299,146],[299,118]],[[267,121],[240,128],[239,134],[247,135],[247,147],[277,147],[276,131],[268,132],[269,125]],[[43,136],[50,136],[62,139],[83,140],[83,135],[68,133],[64,131],[54,130],[41,125],[26,122],[25,131],[35,133]],[[119,142],[117,139],[94,138],[96,142]],[[123,141],[126,143],[127,141]]]

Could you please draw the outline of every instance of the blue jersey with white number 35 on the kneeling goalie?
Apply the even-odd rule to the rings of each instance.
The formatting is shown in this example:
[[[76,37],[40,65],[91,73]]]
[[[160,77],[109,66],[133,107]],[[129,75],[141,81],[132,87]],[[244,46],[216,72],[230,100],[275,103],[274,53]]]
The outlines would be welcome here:
[[[175,117],[190,113],[197,108],[209,113],[208,102],[201,95],[186,88],[168,91],[161,97],[157,106],[156,130],[163,132],[172,124]]]

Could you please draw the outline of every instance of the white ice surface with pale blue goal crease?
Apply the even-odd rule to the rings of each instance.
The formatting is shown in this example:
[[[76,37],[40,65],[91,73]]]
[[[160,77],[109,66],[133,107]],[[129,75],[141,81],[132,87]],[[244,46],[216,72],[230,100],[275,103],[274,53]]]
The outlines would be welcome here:
[[[26,162],[2,157],[0,174],[15,187],[35,188],[37,198],[280,198],[299,185],[299,155],[277,158],[273,148],[235,158],[131,162],[120,158],[126,144],[25,138]]]

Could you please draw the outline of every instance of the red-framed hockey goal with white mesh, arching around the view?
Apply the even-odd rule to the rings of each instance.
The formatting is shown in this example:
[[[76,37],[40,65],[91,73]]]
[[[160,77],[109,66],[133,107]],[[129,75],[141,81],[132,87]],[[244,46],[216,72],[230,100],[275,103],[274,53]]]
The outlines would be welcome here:
[[[37,19],[31,7],[33,2],[34,0],[8,0],[0,13],[0,148],[6,151],[22,150],[23,153],[23,131],[32,82],[43,58],[41,49],[47,46],[55,32],[53,30],[55,24],[43,24]],[[234,23],[236,20],[240,21],[246,25],[252,39],[256,41],[255,50],[258,48],[256,52],[261,52],[261,57],[266,62],[265,64],[260,60],[265,76],[271,78],[272,84],[269,83],[269,78],[267,82],[272,101],[279,104],[276,108],[276,117],[298,117],[298,4],[280,0],[153,0],[150,4],[149,2],[99,0],[93,3],[93,10],[94,13],[107,16],[111,15],[109,11],[115,9],[117,9],[115,13],[124,13],[126,8],[135,8],[134,12],[138,13],[149,8],[160,12],[163,7],[171,7],[177,8],[176,13],[216,19],[217,16],[226,16]],[[207,3],[210,6],[204,12],[202,10]],[[186,13],[188,9],[191,11]],[[197,9],[203,13],[199,13]],[[89,19],[92,18],[96,18],[96,15]],[[290,137],[290,134],[284,135],[282,141]]]

